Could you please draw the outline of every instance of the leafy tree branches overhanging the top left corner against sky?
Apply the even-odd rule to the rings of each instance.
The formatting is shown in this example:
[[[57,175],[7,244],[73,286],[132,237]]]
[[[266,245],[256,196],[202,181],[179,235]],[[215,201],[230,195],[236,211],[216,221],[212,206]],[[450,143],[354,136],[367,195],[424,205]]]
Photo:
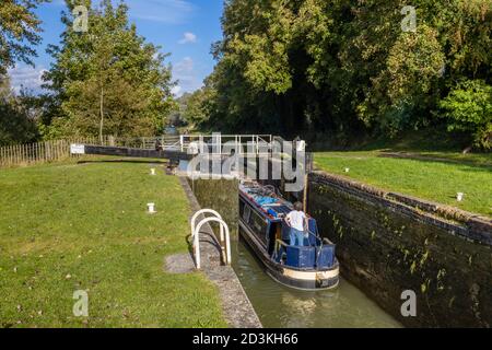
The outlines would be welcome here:
[[[0,74],[16,60],[33,65],[39,44],[40,21],[34,14],[37,5],[49,0],[2,0],[0,7]]]

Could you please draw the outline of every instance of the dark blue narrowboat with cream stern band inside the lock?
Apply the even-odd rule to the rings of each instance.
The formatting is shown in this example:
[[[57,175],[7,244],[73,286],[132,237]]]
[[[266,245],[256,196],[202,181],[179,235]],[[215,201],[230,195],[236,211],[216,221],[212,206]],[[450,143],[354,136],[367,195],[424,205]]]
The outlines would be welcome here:
[[[293,205],[277,194],[274,187],[246,180],[239,184],[239,232],[266,272],[294,289],[336,288],[339,264],[335,244],[321,238],[316,220],[307,215],[304,245],[290,245],[285,215],[292,210]]]

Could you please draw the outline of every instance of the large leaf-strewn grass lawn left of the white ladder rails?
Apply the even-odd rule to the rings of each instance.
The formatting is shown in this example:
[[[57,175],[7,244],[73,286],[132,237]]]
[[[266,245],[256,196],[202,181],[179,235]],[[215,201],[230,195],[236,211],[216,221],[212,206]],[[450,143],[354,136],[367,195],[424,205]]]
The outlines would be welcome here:
[[[149,167],[0,170],[0,327],[226,326],[203,275],[164,271],[187,250],[189,208],[178,179]],[[73,315],[77,290],[86,318]]]

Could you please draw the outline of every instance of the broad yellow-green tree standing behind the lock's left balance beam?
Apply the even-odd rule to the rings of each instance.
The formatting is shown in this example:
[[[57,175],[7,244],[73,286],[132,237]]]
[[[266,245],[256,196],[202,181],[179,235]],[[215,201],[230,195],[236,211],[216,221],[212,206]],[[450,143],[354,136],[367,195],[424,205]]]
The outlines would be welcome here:
[[[45,74],[51,90],[48,135],[154,135],[164,124],[172,102],[166,55],[144,42],[128,21],[124,3],[104,0],[89,12],[89,32],[72,28],[71,1],[62,16],[67,27],[61,47],[49,51],[55,63]]]

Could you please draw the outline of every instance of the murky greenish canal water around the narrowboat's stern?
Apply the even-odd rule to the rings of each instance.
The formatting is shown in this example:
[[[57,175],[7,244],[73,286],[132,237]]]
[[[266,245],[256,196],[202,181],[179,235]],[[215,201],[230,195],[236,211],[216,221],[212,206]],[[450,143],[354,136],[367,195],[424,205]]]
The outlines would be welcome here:
[[[265,327],[394,328],[401,325],[341,279],[332,291],[306,292],[273,281],[243,240],[233,267]]]

